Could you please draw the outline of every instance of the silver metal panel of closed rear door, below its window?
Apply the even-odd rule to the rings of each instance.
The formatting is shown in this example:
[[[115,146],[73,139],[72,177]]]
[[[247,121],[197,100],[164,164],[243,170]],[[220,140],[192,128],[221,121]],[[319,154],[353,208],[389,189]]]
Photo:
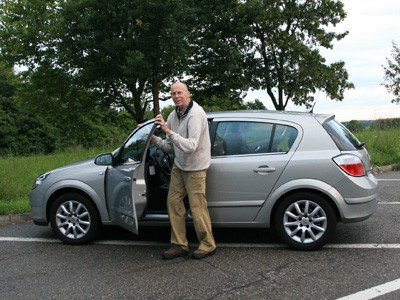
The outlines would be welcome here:
[[[213,158],[207,174],[207,201],[212,221],[254,220],[286,167],[289,156]]]

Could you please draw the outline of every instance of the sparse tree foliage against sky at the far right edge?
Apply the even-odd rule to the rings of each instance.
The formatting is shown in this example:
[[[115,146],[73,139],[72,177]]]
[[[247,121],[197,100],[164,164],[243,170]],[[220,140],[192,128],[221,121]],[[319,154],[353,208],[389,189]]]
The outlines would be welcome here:
[[[385,70],[385,83],[383,84],[387,91],[395,96],[392,103],[400,104],[400,48],[393,42],[392,58],[386,59],[388,66]]]

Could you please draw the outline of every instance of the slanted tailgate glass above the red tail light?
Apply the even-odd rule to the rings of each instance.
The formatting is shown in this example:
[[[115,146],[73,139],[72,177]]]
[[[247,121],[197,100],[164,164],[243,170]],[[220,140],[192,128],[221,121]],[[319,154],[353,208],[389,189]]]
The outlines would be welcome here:
[[[362,147],[362,144],[342,123],[330,120],[322,126],[329,133],[340,151],[357,150]]]

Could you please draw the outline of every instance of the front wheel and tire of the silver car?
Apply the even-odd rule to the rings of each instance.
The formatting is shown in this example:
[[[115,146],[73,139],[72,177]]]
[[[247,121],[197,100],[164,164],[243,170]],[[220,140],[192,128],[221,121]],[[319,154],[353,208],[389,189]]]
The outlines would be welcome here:
[[[96,207],[86,197],[67,193],[58,197],[51,206],[50,224],[64,243],[82,245],[95,238],[100,217]]]

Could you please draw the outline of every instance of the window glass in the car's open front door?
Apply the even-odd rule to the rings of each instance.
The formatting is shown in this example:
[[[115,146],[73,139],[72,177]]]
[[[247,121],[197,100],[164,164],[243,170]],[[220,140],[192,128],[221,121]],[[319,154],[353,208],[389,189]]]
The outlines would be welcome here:
[[[142,160],[143,152],[146,148],[147,139],[153,124],[148,124],[138,129],[124,144],[121,150],[121,161],[125,162],[138,162]]]

